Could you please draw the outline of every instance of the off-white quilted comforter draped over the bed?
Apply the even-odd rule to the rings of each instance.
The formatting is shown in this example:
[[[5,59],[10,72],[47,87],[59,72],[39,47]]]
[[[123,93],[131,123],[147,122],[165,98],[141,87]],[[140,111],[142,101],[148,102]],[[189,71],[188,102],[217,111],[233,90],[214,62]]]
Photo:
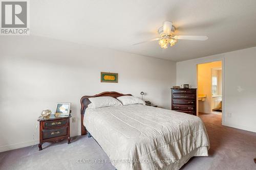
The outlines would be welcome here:
[[[192,156],[208,156],[202,120],[186,113],[145,105],[87,108],[83,124],[118,170],[179,169]]]

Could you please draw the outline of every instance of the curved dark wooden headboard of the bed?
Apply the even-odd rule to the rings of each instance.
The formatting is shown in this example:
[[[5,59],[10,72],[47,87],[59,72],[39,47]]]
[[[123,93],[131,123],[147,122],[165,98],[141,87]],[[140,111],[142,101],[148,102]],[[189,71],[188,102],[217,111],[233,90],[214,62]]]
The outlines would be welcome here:
[[[86,127],[83,126],[83,116],[84,116],[84,112],[86,111],[86,108],[88,107],[88,105],[91,103],[89,101],[89,98],[95,98],[95,97],[101,97],[101,96],[111,96],[113,98],[118,98],[122,95],[132,95],[132,94],[122,94],[116,91],[105,91],[96,95],[84,95],[82,96],[80,103],[81,103],[81,135],[86,135],[87,134],[87,130]]]

